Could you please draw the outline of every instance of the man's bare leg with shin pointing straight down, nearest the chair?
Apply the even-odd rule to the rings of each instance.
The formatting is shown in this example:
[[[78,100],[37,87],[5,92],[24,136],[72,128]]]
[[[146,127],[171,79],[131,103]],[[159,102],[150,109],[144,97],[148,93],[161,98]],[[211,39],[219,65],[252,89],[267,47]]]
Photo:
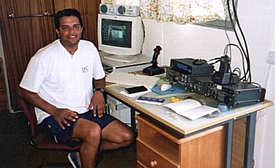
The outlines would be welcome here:
[[[81,166],[94,167],[101,139],[100,126],[86,119],[78,119],[72,137],[83,141],[80,147]]]

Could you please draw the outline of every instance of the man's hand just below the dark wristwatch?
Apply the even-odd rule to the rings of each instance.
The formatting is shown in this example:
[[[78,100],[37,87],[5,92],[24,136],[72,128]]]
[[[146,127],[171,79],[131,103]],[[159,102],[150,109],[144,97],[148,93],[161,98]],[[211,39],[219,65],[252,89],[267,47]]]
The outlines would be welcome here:
[[[104,96],[101,92],[94,92],[93,97],[91,98],[91,103],[88,107],[89,110],[94,106],[94,117],[96,117],[96,112],[98,113],[98,117],[102,117],[103,113],[105,113],[105,100]]]

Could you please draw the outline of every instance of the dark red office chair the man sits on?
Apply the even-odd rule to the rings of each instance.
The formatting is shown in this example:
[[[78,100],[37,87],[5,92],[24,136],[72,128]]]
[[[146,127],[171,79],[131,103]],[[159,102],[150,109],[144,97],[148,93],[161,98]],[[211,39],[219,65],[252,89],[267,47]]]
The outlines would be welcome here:
[[[34,112],[34,106],[29,104],[24,99],[19,99],[23,111],[28,119],[28,124],[30,126],[30,144],[33,147],[38,149],[47,149],[47,150],[56,150],[56,151],[66,151],[66,152],[76,152],[79,150],[80,145],[70,147],[69,145],[65,145],[62,143],[56,143],[54,141],[54,136],[50,136],[45,130],[39,129],[39,125],[37,125],[36,115]],[[52,166],[52,167],[71,167],[69,163],[41,163],[36,167],[45,167],[45,166]]]

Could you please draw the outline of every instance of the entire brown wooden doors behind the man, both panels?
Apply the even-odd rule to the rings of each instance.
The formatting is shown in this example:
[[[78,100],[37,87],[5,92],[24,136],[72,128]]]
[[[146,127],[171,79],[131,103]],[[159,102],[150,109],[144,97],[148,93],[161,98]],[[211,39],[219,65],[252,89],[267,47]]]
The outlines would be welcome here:
[[[52,16],[20,17],[54,14],[64,8],[76,8],[83,17],[83,39],[98,46],[97,18],[100,0],[10,0],[0,1],[0,28],[8,72],[12,109],[20,109],[17,88],[30,58],[38,49],[56,39]]]

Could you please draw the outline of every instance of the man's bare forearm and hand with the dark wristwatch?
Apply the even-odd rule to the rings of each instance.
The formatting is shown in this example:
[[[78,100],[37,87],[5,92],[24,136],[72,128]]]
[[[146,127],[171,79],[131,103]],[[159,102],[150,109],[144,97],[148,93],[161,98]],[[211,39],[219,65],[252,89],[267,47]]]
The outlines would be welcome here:
[[[105,77],[100,80],[93,80],[94,88],[104,88],[105,87]],[[95,91],[93,97],[91,98],[91,103],[89,104],[89,109],[94,106],[94,117],[96,117],[96,112],[98,117],[102,117],[105,113],[105,99],[100,91]]]

